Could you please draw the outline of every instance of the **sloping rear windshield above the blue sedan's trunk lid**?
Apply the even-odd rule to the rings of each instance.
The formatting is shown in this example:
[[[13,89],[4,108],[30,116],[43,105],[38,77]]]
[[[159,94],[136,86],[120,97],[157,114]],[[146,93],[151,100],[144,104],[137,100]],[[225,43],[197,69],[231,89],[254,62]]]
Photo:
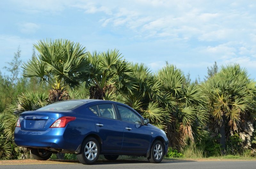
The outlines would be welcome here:
[[[64,102],[56,102],[44,106],[37,110],[71,110],[75,107],[82,105],[84,102],[81,101],[64,101]]]

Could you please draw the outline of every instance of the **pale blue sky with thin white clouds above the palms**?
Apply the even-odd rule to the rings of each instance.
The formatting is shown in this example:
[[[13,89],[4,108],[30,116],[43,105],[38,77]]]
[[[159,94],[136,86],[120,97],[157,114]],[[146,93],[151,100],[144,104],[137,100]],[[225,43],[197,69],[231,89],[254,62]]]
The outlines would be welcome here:
[[[87,51],[118,49],[152,72],[166,61],[193,80],[239,63],[256,79],[256,2],[229,0],[0,1],[0,71],[42,39],[69,39]]]

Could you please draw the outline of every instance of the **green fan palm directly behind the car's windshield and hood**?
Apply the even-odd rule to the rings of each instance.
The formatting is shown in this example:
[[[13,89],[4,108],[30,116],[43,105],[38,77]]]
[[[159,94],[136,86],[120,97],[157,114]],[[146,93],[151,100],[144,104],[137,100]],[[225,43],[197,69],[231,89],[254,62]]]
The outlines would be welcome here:
[[[148,118],[150,123],[164,129],[162,124],[168,114],[158,103],[161,94],[160,83],[145,64],[130,63],[129,67],[132,70],[133,87],[122,95],[114,95],[111,99],[129,105],[144,118]]]

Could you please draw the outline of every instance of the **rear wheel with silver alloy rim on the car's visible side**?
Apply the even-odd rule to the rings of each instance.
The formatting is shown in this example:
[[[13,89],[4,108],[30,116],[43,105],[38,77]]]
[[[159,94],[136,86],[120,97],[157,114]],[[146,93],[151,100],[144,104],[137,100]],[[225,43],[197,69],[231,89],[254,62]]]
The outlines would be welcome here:
[[[93,164],[100,156],[100,145],[93,137],[86,138],[81,147],[81,151],[76,155],[77,159],[82,164]]]

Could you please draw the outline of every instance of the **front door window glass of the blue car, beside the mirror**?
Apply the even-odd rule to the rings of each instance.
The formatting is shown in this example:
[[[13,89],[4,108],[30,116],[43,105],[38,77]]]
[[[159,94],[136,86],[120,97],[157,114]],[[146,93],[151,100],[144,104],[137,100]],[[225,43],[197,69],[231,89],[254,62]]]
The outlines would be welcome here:
[[[134,113],[131,109],[128,109],[127,107],[121,105],[116,106],[120,113],[122,121],[142,124],[140,116]]]

